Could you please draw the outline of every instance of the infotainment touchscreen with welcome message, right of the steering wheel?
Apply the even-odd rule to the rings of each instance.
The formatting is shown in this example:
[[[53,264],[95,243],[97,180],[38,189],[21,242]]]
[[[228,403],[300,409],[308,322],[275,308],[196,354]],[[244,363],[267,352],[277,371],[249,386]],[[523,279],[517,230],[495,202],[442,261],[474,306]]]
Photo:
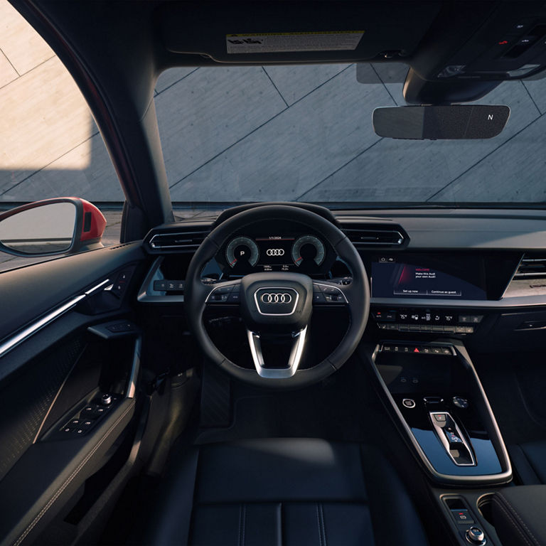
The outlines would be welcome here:
[[[486,299],[480,257],[380,256],[372,262],[376,298]]]

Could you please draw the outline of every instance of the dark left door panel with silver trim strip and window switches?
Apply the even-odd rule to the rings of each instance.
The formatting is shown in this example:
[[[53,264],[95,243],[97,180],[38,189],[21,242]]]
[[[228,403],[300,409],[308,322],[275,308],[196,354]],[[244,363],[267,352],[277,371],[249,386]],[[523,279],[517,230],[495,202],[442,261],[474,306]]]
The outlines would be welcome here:
[[[130,323],[145,266],[134,243],[0,274],[0,347],[8,347],[0,357],[2,545],[42,542],[41,533],[68,503],[87,495],[86,480],[114,455],[119,459],[122,439],[129,436],[130,444],[139,331],[97,332],[109,332],[103,323]],[[85,294],[100,283],[100,290]],[[75,306],[41,325],[43,316],[78,295]],[[29,335],[11,347],[21,331]],[[112,404],[102,405],[104,392]],[[93,414],[85,413],[90,407]],[[90,426],[63,434],[73,419]]]

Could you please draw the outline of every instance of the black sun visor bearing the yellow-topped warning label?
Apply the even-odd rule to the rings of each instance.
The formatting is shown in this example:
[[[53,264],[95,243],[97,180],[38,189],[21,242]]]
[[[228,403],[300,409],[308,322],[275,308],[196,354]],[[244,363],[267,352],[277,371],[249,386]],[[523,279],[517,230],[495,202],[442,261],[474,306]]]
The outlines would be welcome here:
[[[437,4],[412,2],[249,2],[235,7],[166,4],[161,9],[166,49],[220,63],[398,57],[411,55],[439,11]]]

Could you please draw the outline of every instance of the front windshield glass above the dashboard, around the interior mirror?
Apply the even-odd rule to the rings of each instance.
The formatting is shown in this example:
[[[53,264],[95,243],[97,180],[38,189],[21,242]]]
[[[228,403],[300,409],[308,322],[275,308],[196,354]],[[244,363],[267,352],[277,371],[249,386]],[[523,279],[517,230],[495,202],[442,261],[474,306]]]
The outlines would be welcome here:
[[[167,70],[155,102],[173,202],[545,202],[546,80],[503,82],[476,101],[510,107],[493,139],[387,139],[373,110],[406,105],[402,82],[366,66],[366,83],[355,64]]]

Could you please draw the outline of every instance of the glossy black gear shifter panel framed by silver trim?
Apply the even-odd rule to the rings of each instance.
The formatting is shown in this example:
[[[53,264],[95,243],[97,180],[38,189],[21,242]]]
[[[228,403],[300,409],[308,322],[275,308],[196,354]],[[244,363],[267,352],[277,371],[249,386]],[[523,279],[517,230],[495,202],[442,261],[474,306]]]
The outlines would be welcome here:
[[[510,481],[508,453],[460,341],[384,340],[372,360],[390,411],[434,481]]]

